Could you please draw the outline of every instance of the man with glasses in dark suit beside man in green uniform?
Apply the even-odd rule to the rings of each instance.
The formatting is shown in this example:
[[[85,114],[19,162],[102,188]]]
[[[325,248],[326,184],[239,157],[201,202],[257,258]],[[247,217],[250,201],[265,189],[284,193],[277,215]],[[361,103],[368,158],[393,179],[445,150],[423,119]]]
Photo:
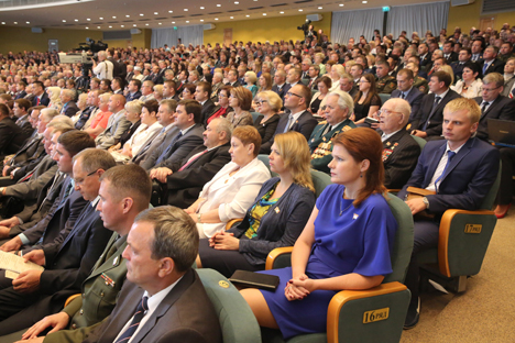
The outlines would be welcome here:
[[[112,235],[103,228],[96,207],[99,178],[113,166],[114,159],[105,151],[90,148],[75,156],[75,188],[88,203],[69,233],[62,232],[54,242],[23,254],[25,261],[45,269],[23,272],[12,286],[0,290],[0,334],[22,330],[33,324],[34,318],[55,313],[69,296],[80,291]]]

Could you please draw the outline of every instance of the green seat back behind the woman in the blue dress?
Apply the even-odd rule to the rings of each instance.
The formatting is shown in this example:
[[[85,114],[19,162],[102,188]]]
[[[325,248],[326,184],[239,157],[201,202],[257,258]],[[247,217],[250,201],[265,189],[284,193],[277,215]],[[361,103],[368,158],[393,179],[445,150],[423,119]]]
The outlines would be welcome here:
[[[391,255],[393,272],[384,278],[383,284],[392,281],[404,283],[413,251],[413,214],[406,202],[391,193],[387,196],[390,209],[397,221],[397,232],[395,233],[395,242]]]

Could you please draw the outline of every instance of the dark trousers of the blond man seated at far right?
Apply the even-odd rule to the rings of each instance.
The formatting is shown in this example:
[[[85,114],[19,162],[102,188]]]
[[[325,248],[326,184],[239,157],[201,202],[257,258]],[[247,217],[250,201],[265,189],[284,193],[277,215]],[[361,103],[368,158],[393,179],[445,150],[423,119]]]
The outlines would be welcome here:
[[[404,284],[412,292],[412,301],[409,302],[409,311],[414,311],[418,306],[419,295],[419,275],[420,269],[417,262],[418,253],[428,248],[438,246],[438,233],[440,223],[437,221],[416,221],[414,231],[414,244],[412,261],[409,262],[406,279]]]

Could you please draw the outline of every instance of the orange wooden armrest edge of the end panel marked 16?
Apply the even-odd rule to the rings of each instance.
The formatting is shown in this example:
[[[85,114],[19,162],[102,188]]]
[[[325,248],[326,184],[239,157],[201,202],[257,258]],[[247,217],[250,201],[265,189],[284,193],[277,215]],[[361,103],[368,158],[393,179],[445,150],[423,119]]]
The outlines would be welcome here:
[[[341,308],[351,300],[376,297],[407,289],[401,283],[381,284],[364,290],[342,290],[332,297],[327,310],[327,342],[338,342],[338,323]]]

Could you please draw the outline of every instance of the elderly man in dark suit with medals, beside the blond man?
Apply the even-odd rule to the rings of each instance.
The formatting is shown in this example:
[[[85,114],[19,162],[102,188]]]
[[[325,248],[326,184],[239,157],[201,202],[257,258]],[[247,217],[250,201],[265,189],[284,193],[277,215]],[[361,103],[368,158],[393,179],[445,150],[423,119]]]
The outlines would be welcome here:
[[[406,131],[409,112],[409,103],[398,98],[387,100],[380,110],[384,186],[390,189],[406,185],[420,155],[420,145]]]

